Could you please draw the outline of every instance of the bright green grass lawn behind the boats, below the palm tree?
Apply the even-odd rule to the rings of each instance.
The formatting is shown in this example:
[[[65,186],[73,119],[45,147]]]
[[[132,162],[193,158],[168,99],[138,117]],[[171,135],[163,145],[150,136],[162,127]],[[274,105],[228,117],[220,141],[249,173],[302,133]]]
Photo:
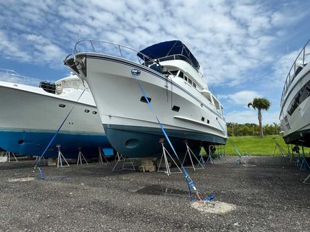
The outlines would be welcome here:
[[[287,151],[287,145],[284,143],[281,136],[264,136],[264,138],[259,138],[256,136],[233,136],[229,137],[227,140],[225,146],[226,155],[237,155],[233,145],[231,144],[231,142],[233,142],[242,155],[244,155],[244,152],[246,151],[251,156],[273,156],[275,151],[275,156],[282,156],[278,148],[275,150],[275,141],[272,138],[275,138],[275,140],[277,140],[278,143]],[[309,148],[304,148],[304,153],[306,156],[309,156],[309,151]]]

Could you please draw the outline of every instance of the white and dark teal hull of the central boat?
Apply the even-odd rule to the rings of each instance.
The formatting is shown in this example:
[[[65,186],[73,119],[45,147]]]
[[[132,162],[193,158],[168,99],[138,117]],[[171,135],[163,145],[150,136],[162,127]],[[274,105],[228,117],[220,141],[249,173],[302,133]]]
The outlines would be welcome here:
[[[137,81],[177,151],[185,151],[184,139],[190,141],[192,149],[226,143],[224,119],[209,109],[196,89],[191,94],[191,86],[183,83],[182,87],[148,67],[124,59],[101,54],[84,56],[86,76],[82,72],[80,76],[93,93],[109,142],[125,156],[157,156],[162,151],[159,138],[164,135],[148,103],[143,101]],[[79,55],[76,57],[79,59]],[[141,74],[133,76],[133,70]],[[174,105],[179,110],[173,110]]]

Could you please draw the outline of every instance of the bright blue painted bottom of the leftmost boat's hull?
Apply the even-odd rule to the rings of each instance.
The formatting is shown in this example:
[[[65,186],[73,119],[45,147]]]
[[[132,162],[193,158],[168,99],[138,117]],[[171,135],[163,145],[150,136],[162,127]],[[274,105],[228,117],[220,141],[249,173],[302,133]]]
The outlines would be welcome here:
[[[0,131],[0,147],[16,154],[41,156],[55,132],[39,131]],[[98,156],[98,147],[110,147],[104,135],[59,133],[44,157],[57,156],[56,145],[61,145],[61,153],[66,158],[77,158],[81,147],[86,158]]]

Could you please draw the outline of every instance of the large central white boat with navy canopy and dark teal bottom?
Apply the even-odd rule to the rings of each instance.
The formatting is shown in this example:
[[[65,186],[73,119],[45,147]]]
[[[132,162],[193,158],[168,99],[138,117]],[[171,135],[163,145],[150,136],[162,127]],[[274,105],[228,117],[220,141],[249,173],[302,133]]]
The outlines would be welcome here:
[[[164,135],[138,82],[179,154],[185,153],[185,139],[196,154],[201,146],[226,143],[223,107],[181,41],[141,52],[104,41],[79,41],[64,63],[87,81],[110,144],[125,156],[162,152],[159,139]]]

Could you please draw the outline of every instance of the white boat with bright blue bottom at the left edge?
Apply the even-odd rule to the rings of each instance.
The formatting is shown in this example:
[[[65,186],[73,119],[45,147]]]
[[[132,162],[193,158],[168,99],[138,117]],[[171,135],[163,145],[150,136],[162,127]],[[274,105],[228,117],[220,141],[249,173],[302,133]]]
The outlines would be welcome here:
[[[78,147],[88,157],[110,147],[93,96],[75,75],[48,83],[0,70],[0,99],[2,149],[41,156],[73,106],[45,157],[57,156],[56,145],[67,158],[77,157]]]

